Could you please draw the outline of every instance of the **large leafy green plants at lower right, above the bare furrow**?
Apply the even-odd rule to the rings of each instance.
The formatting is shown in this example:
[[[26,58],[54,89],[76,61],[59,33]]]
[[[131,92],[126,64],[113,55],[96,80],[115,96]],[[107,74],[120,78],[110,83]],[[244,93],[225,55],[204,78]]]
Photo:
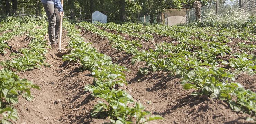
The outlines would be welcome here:
[[[227,100],[234,111],[255,115],[256,93],[245,90],[239,83],[228,83],[227,79],[234,81],[234,76],[226,71],[214,65],[211,68],[199,66],[183,76],[183,88],[195,89],[197,92],[193,92],[193,95],[207,95],[211,99]]]

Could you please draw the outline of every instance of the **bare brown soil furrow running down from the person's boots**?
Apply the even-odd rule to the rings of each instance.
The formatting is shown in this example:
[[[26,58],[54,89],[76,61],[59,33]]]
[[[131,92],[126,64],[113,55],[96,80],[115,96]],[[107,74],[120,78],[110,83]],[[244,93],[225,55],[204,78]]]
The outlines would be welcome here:
[[[68,45],[66,33],[66,31],[63,32],[63,46]],[[32,90],[33,101],[19,97],[16,108],[20,119],[14,123],[96,124],[108,122],[108,120],[90,117],[90,111],[97,104],[97,99],[84,91],[86,84],[92,84],[91,72],[81,70],[77,63],[63,62],[52,52],[49,52],[46,58],[47,62],[52,65],[51,67],[18,73],[21,78],[27,78],[40,86],[41,90]]]

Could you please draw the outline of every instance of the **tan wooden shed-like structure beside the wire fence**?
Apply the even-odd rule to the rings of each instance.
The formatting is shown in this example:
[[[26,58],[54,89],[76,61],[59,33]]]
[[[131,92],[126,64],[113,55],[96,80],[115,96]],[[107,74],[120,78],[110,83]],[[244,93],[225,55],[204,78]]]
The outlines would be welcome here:
[[[187,10],[189,9],[164,9],[162,22],[169,26],[187,23]]]

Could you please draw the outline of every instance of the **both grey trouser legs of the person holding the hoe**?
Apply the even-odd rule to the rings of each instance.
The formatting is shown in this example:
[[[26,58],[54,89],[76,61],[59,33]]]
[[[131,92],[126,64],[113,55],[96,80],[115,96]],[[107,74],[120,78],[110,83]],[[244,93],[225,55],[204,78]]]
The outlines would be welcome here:
[[[51,44],[58,42],[59,29],[60,29],[60,15],[58,9],[54,7],[54,4],[44,4],[44,10],[49,20],[48,33]],[[57,14],[56,14],[57,13]]]

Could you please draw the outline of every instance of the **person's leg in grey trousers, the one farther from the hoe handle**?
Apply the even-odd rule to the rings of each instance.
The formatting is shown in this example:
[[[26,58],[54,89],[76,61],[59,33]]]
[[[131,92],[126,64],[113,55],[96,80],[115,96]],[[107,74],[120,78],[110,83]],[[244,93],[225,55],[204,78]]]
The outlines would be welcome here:
[[[50,43],[55,44],[55,25],[56,25],[56,16],[55,16],[55,11],[54,11],[54,4],[44,4],[44,10],[46,12],[46,15],[49,20],[49,27],[48,27],[48,33],[49,33],[49,39]]]

